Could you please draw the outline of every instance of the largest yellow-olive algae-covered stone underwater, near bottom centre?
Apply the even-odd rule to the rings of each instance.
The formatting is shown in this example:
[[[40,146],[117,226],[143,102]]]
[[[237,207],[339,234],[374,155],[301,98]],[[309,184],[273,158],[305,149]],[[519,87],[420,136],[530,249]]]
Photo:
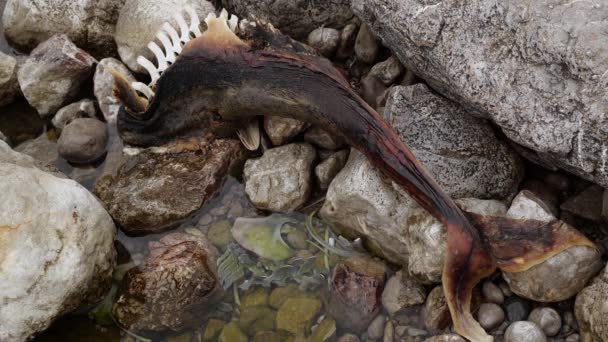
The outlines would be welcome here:
[[[321,310],[316,298],[289,298],[277,313],[277,329],[304,335]]]

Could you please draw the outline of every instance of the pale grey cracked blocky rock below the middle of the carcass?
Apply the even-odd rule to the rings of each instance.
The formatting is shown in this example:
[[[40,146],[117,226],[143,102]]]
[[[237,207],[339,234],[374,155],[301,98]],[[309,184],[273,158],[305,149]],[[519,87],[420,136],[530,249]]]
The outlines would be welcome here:
[[[289,144],[267,150],[245,163],[245,191],[259,209],[290,211],[304,205],[311,191],[315,149]]]

